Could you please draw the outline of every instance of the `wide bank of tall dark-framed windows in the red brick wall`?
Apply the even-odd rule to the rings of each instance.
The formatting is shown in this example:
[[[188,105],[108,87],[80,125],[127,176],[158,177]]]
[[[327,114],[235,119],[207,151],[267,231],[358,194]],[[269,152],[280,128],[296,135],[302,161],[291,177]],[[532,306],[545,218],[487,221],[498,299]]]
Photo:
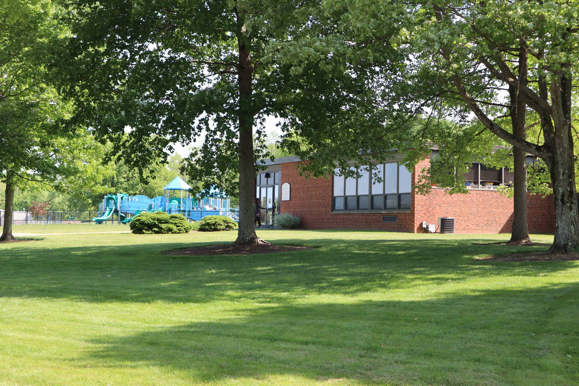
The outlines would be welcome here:
[[[410,209],[412,174],[404,166],[395,162],[379,164],[373,170],[361,166],[358,174],[358,178],[344,178],[339,169],[334,170],[332,210]]]

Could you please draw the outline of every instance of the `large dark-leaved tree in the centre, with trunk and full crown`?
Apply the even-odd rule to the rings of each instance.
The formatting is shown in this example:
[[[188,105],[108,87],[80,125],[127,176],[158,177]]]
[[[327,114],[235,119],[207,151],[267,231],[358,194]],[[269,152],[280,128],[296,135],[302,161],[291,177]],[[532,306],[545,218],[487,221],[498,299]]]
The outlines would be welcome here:
[[[324,17],[327,30],[309,38],[318,48],[328,44],[325,34],[339,25],[314,16],[318,2],[65,3],[72,35],[55,53],[53,73],[78,107],[71,122],[93,126],[140,170],[166,157],[172,142],[204,135],[187,174],[229,192],[239,188],[236,244],[258,242],[252,202],[256,160],[268,156],[259,145],[266,117],[278,118],[288,149],[329,149],[335,139],[331,160],[329,153],[316,157],[325,160],[325,171],[360,149],[388,147],[376,134],[383,111],[373,108],[376,94],[367,87],[381,70],[329,51],[306,64],[306,55],[285,46],[314,17]]]

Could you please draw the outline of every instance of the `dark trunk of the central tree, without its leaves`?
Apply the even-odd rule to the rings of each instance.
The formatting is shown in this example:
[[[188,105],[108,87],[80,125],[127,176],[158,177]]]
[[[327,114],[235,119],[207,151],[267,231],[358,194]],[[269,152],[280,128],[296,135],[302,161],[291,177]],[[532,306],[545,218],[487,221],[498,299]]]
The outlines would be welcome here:
[[[238,17],[239,20],[239,17]],[[237,36],[239,66],[239,226],[235,245],[250,245],[259,242],[255,234],[255,162],[253,154],[254,106],[252,106],[252,66],[250,38],[245,36],[245,27],[239,23],[241,32]]]

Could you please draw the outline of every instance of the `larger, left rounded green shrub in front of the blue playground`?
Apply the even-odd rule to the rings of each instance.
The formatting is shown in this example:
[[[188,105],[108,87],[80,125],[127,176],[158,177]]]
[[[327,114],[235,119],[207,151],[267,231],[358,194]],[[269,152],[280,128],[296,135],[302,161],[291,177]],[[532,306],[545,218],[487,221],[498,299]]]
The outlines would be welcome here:
[[[129,223],[133,233],[188,233],[193,226],[184,215],[168,215],[165,212],[141,212]]]

